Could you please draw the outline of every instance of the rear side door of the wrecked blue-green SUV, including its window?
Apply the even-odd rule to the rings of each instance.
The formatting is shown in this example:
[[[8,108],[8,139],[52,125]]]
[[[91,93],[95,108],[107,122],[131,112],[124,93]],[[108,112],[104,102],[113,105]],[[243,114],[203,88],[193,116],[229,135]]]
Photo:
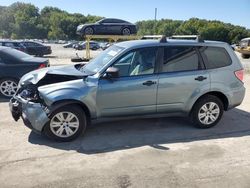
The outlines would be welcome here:
[[[210,89],[209,73],[193,46],[164,47],[159,74],[157,112],[185,111],[202,90]]]

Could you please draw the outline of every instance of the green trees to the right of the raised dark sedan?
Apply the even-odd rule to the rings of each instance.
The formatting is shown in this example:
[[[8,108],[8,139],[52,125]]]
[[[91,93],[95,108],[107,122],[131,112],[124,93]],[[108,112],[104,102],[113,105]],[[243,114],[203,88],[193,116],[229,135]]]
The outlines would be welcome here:
[[[217,20],[191,18],[187,21],[162,19],[137,22],[138,34],[200,35],[206,40],[219,40],[237,43],[242,38],[250,36],[250,30],[245,27],[223,23]]]

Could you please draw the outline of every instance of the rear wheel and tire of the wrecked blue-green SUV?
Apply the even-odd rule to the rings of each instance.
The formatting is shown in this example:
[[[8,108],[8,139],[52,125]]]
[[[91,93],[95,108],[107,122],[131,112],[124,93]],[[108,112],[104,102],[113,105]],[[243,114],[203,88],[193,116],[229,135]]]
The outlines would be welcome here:
[[[206,95],[194,104],[191,121],[197,128],[210,128],[220,121],[223,112],[222,101],[214,95]]]

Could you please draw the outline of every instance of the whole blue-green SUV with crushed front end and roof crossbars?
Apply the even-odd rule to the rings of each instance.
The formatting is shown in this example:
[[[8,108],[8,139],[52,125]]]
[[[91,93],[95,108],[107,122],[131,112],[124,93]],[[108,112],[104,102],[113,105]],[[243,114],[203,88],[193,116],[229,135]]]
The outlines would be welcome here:
[[[242,65],[227,43],[127,41],[85,66],[26,74],[10,110],[15,120],[22,117],[31,129],[59,141],[78,137],[93,119],[124,116],[180,115],[209,128],[241,104],[242,81]]]

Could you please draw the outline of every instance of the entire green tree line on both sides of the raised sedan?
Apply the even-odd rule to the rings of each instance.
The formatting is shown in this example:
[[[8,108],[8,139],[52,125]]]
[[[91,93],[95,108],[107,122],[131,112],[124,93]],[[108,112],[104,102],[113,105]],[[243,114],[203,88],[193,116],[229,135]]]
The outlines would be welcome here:
[[[17,2],[0,6],[0,38],[12,39],[80,39],[76,34],[79,24],[93,23],[100,16],[71,14],[55,7],[39,10],[32,4]],[[250,36],[250,30],[221,21],[191,18],[181,20],[144,20],[136,23],[138,35],[164,34],[201,35],[207,40],[237,43]]]

